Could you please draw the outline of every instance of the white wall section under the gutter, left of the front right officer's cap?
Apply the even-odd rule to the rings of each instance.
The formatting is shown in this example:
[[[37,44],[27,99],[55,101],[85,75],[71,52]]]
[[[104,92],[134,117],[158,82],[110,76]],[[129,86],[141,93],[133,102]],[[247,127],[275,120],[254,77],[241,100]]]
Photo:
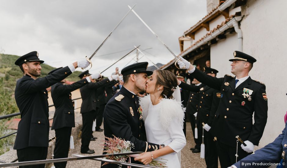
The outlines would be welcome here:
[[[231,62],[233,52],[237,50],[237,34],[227,35],[226,39],[219,40],[216,44],[210,46],[210,67],[219,71],[217,77],[221,78],[225,74],[234,76],[231,71]]]

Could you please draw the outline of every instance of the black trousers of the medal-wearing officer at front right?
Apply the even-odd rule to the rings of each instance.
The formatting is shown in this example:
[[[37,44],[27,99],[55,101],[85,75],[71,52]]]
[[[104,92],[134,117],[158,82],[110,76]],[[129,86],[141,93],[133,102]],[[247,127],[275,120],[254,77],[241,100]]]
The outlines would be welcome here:
[[[234,163],[236,163],[236,156],[235,156],[236,146],[232,147],[232,146],[229,146],[227,144],[223,144],[222,142],[220,142],[218,140],[216,141],[216,144],[217,144],[216,145],[217,146],[217,152],[218,152],[221,167],[229,167],[229,166],[233,165]],[[241,148],[240,145],[241,145],[240,142],[238,142],[237,162],[239,160],[245,158],[246,156],[252,154],[252,152],[251,153],[245,152]]]

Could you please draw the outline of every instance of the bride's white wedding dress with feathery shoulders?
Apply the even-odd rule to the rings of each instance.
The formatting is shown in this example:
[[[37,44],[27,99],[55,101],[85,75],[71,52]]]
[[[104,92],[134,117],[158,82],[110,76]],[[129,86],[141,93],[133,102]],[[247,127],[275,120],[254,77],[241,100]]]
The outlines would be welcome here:
[[[166,162],[169,168],[180,168],[180,151],[186,145],[182,130],[185,109],[175,99],[162,99],[159,104],[152,105],[149,95],[140,98],[140,105],[147,141],[168,145],[175,151],[155,160]]]

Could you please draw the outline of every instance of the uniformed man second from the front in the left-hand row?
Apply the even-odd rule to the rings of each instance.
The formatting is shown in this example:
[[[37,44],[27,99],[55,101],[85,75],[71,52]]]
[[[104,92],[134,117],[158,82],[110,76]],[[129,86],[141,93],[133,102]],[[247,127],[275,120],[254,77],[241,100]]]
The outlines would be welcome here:
[[[63,68],[63,67],[61,67]],[[61,68],[56,68],[48,74],[53,73]],[[100,74],[93,74],[88,78],[74,82],[71,85],[64,85],[63,79],[51,88],[51,96],[55,106],[55,114],[53,118],[52,130],[55,130],[56,143],[54,149],[54,159],[67,158],[70,146],[70,137],[72,127],[75,127],[74,106],[72,103],[72,91],[85,86],[94,78],[98,78]],[[66,167],[67,162],[54,163],[57,168]]]

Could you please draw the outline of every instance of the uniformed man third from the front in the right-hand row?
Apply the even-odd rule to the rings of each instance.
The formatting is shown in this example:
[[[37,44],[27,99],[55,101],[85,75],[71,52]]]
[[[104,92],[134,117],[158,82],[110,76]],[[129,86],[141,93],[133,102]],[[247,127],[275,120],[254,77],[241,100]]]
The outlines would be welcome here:
[[[199,104],[199,89],[202,88],[203,86],[205,86],[204,84],[202,84],[201,82],[199,82],[198,80],[196,80],[195,78],[193,78],[193,81],[191,82],[193,87],[190,87],[190,85],[185,84],[184,82],[181,82],[180,80],[177,80],[177,84],[180,88],[184,89],[184,90],[188,90],[189,91],[189,99],[187,101],[187,105],[186,105],[186,113],[187,113],[187,117],[190,121],[191,124],[191,129],[192,129],[192,133],[193,133],[193,139],[194,139],[194,143],[195,146],[191,147],[190,150],[192,151],[192,153],[199,153],[200,152],[200,145],[202,142],[198,141],[198,138],[195,138],[195,127],[198,127],[195,124],[195,115],[197,115],[197,110],[198,110],[198,104]],[[201,126],[201,125],[199,125]]]

